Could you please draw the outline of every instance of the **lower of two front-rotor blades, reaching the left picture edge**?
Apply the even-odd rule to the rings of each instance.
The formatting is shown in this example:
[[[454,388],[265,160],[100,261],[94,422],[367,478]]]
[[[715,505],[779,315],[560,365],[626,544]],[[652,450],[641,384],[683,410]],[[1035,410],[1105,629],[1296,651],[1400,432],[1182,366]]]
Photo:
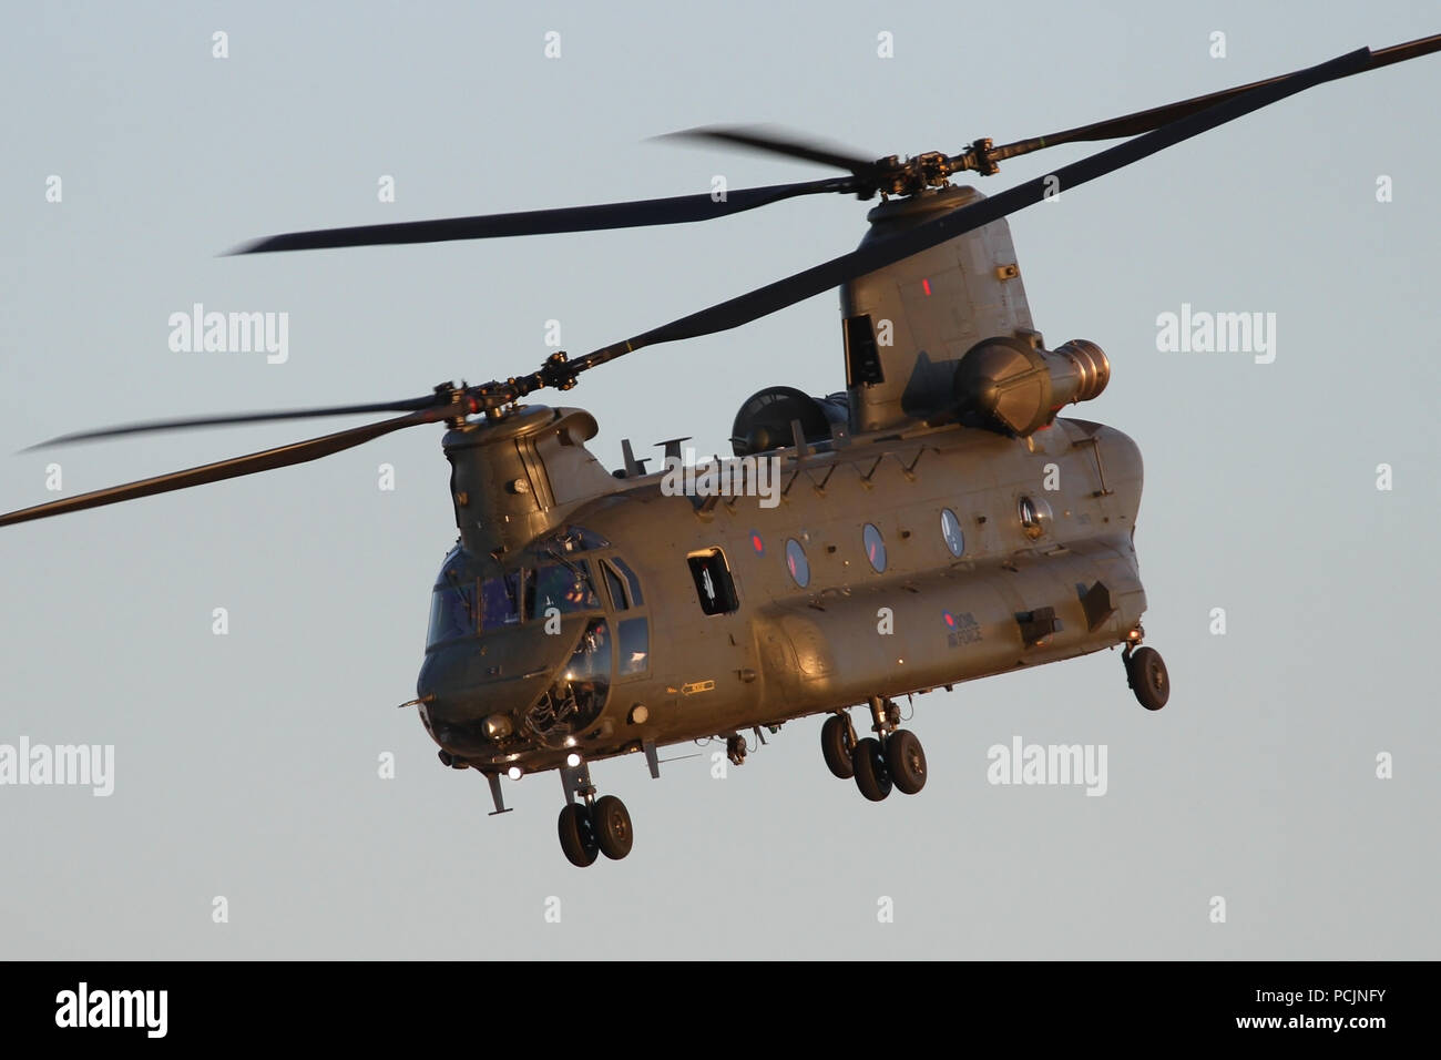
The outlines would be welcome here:
[[[409,415],[396,417],[395,420],[382,420],[380,423],[367,424],[365,427],[352,427],[350,430],[339,431],[336,434],[326,434],[320,438],[297,441],[291,446],[281,446],[280,449],[267,449],[262,453],[238,456],[231,460],[222,460],[215,464],[203,464],[200,467],[190,467],[183,472],[157,474],[153,479],[141,479],[140,482],[131,482],[124,486],[98,489],[92,493],[81,493],[79,496],[65,498],[63,500],[52,500],[48,505],[37,505],[36,508],[7,512],[0,515],[0,526],[10,526],[17,522],[29,522],[32,519],[45,519],[52,515],[63,515],[65,512],[79,512],[86,508],[115,505],[121,500],[134,500],[135,498],[146,498],[153,493],[169,493],[177,489],[190,489],[192,486],[203,486],[208,482],[239,479],[244,474],[269,472],[277,467],[303,464],[310,460],[318,460],[323,456],[340,453],[346,449],[354,449],[366,441],[379,438],[383,434],[391,434],[392,431],[399,431],[406,427],[416,427],[419,424],[438,423],[445,417],[447,411],[442,408],[422,410],[419,412],[411,412]]]

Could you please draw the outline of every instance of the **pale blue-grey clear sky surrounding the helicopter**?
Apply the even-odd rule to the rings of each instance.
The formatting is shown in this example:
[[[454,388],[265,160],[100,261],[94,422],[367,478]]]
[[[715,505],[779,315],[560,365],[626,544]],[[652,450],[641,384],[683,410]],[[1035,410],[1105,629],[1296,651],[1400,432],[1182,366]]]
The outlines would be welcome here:
[[[648,143],[709,123],[958,151],[1427,36],[1441,9],[30,3],[3,26],[13,509],[55,499],[52,461],[75,493],[331,427],[10,456],[55,434],[529,371],[550,319],[582,353],[850,249],[866,206],[216,257],[242,239],[830,175]],[[0,787],[0,956],[1441,956],[1437,100],[1441,56],[1324,85],[1010,221],[1048,346],[1111,358],[1081,414],[1146,457],[1136,541],[1164,711],[1136,704],[1110,652],[918,698],[929,782],[876,805],[827,773],[818,718],[723,780],[715,746],[659,782],[638,756],[599,763],[637,841],[579,871],[556,844],[555,774],[507,783],[516,812],[487,818],[484,780],[442,769],[395,710],[455,538],[441,431],[406,431],[0,531],[0,743],[115,746],[108,799]],[[1091,150],[1004,163],[981,187]],[[167,319],[196,301],[288,312],[290,359],[171,352]],[[1275,362],[1157,352],[1157,314],[1183,303],[1275,313]],[[623,437],[638,456],[677,436],[722,449],[769,384],[843,388],[834,296],[635,353],[566,404],[597,415],[591,449],[615,467]],[[1016,736],[1105,744],[1107,795],[989,785],[987,748]]]

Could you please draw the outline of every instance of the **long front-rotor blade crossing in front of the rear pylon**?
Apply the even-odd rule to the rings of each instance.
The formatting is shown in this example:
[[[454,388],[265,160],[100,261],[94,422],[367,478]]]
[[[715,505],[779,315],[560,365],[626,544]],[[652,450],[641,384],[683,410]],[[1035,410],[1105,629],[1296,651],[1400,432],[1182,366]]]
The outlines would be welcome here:
[[[669,324],[643,332],[624,342],[604,346],[578,358],[572,365],[576,372],[581,372],[614,361],[643,346],[676,342],[677,339],[693,339],[739,327],[1040,202],[1050,186],[1069,190],[1307,88],[1343,78],[1349,74],[1357,74],[1368,69],[1370,58],[1370,50],[1362,48],[1319,66],[1265,82],[1259,88],[1173,121],[1153,133],[1127,140],[1115,147],[1108,147],[1069,166],[1062,166],[1052,175],[1016,185],[989,199],[944,213],[934,221],[916,225],[882,242],[862,247],[839,258],[831,258],[803,273],[748,291],[729,301],[710,306],[699,313],[672,320]],[[1059,185],[1052,185],[1052,180],[1059,180]]]

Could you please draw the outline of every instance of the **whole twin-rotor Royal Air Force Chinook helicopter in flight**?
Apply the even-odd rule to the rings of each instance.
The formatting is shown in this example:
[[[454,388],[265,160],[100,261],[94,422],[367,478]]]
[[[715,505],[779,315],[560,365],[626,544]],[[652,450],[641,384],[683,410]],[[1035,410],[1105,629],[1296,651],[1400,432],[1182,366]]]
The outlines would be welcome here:
[[[846,172],[804,183],[644,202],[293,232],[235,252],[440,242],[708,221],[804,195],[880,202],[859,248],[579,358],[530,374],[367,405],[179,418],[141,431],[310,417],[392,418],[0,516],[0,525],[117,503],[339,453],[422,424],[447,427],[460,539],[431,594],[416,707],[447,767],[501,777],[558,770],[561,847],[576,865],[624,858],[631,818],[598,796],[594,761],[720,737],[745,760],[795,718],[824,714],[821,757],[860,793],[927,780],[896,699],[963,681],[1123,649],[1141,707],[1170,681],[1141,646],[1134,548],[1141,456],[1121,431],[1058,415],[1095,398],[1107,355],[1035,329],[1004,218],[1314,85],[1441,50],[1441,36],[1360,49],[1294,74],[1053,136],[958,154],[866,160],[757,128],[683,136]],[[1066,143],[1125,138],[987,198],[963,172]],[[650,470],[623,443],[608,472],[586,450],[595,418],[523,404],[543,388],[664,342],[738,327],[840,288],[846,389],[768,387],[732,427],[733,457]],[[680,472],[684,470],[684,476]],[[725,472],[725,474],[722,474]],[[1055,482],[1048,483],[1048,476]],[[677,487],[677,480],[690,487]],[[708,479],[728,487],[703,489]],[[762,490],[769,487],[769,495]],[[774,502],[774,503],[769,503]],[[852,708],[865,705],[870,736]]]

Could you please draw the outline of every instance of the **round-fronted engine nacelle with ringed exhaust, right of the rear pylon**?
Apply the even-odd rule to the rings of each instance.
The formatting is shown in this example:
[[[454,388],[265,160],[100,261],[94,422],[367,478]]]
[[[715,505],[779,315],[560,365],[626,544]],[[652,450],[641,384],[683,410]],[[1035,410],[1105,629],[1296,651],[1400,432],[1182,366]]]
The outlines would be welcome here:
[[[1050,425],[1065,405],[1089,401],[1111,381],[1111,362],[1094,342],[1059,349],[996,336],[976,343],[955,369],[961,423],[1026,437]]]

